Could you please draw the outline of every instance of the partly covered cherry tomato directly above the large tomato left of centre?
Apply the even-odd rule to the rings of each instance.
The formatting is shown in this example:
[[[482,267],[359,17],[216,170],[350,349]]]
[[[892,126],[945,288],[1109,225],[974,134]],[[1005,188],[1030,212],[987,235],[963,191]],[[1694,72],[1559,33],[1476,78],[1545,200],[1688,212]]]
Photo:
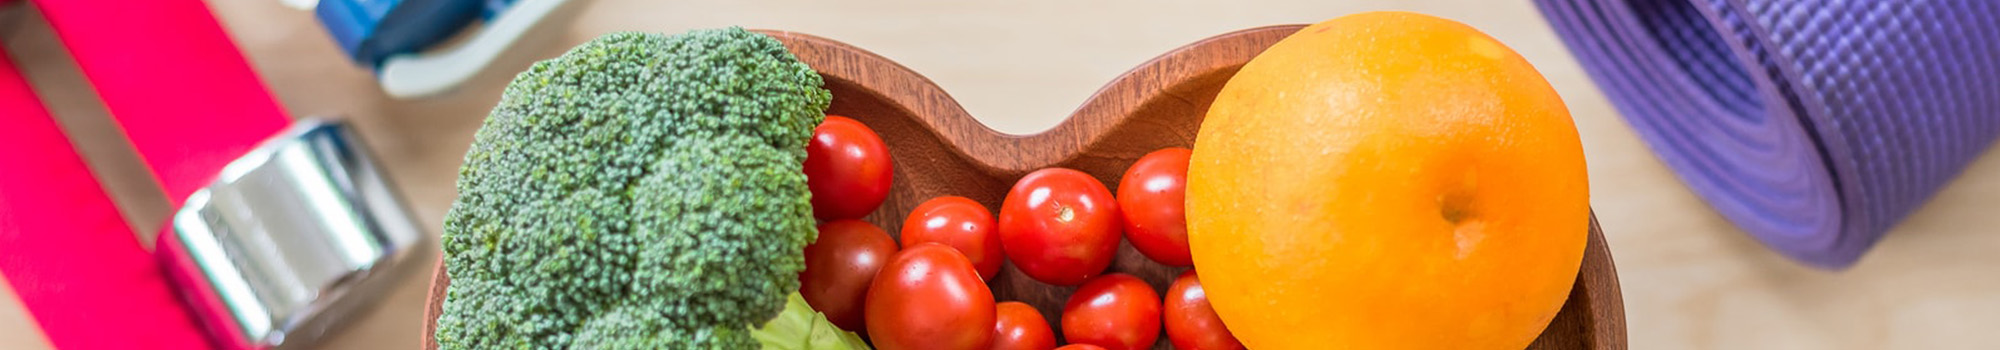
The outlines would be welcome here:
[[[962,196],[940,196],[918,204],[910,218],[902,220],[902,246],[938,242],[958,248],[980,270],[980,278],[992,280],[1000,274],[1000,234],[994,232],[994,214]]]

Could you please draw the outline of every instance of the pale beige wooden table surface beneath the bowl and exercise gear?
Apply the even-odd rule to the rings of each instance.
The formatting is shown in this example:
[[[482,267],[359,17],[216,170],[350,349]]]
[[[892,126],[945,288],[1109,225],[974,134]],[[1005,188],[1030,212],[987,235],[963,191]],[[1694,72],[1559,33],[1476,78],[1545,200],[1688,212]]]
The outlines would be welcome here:
[[[494,72],[430,100],[386,98],[348,64],[310,12],[278,0],[210,0],[294,116],[352,120],[436,234],[456,166],[500,88],[526,64],[614,30],[740,24],[810,32],[888,56],[936,80],[1004,132],[1038,132],[1118,72],[1238,28],[1318,22],[1360,10],[1418,10],[1486,30],[1556,84],[1590,160],[1592,204],[1618,262],[1634,348],[2000,348],[2000,158],[1988,154],[1902,222],[1860,266],[1822,272],[1758,246],[1682,186],[1616,116],[1526,0],[1256,2],[754,2],[580,0]],[[138,232],[166,198],[150,188],[62,46],[32,12],[0,10],[0,42],[72,132]],[[150,234],[138,234],[150,242]],[[410,274],[324,348],[414,348],[424,278]],[[0,348],[48,342],[0,284]]]

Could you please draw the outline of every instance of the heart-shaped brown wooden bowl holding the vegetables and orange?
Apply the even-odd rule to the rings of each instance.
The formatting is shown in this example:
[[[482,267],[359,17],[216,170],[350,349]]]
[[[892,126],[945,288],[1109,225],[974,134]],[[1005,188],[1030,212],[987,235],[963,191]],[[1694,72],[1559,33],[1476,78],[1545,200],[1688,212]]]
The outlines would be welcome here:
[[[888,142],[896,162],[894,188],[868,222],[896,234],[902,218],[936,196],[966,196],[998,210],[1016,178],[1048,166],[1076,168],[1118,188],[1124,168],[1146,152],[1194,146],[1194,134],[1222,84],[1244,62],[1298,32],[1302,26],[1266,26],[1230,32],[1176,48],[1118,76],[1060,126],[1042,134],[1002,134],[986,128],[928,78],[872,52],[796,32],[760,30],[786,44],[798,60],[826,78],[834,92],[828,114],[856,118]],[[1154,264],[1120,242],[1114,272],[1144,278],[1154,290],[1182,272]],[[424,312],[424,348],[436,348],[444,288],[450,278],[440,262]],[[988,282],[996,300],[1034,304],[1054,326],[1074,288],[1048,286],[1012,264]],[[1060,332],[1058,332],[1060,334]],[[1166,336],[1154,348],[1172,348]],[[1624,304],[1618,272],[1596,218],[1590,244],[1568,304],[1528,348],[1626,348]]]

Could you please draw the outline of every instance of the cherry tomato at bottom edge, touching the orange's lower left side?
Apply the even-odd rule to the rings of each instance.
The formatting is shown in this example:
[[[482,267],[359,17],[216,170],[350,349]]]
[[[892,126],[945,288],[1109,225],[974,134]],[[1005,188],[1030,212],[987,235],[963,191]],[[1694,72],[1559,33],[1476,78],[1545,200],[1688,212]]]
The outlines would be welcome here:
[[[1222,326],[1222,316],[1208,306],[1208,292],[1194,270],[1180,272],[1166,286],[1166,340],[1180,350],[1242,350],[1244,344]]]

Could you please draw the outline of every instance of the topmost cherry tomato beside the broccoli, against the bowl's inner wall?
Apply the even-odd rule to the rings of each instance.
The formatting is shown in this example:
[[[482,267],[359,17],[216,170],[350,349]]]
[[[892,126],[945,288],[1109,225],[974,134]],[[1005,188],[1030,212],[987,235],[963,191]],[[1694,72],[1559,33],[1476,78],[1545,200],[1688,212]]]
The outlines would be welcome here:
[[[826,116],[806,144],[812,216],[820,220],[868,216],[888,198],[894,168],[882,136],[852,118]]]

